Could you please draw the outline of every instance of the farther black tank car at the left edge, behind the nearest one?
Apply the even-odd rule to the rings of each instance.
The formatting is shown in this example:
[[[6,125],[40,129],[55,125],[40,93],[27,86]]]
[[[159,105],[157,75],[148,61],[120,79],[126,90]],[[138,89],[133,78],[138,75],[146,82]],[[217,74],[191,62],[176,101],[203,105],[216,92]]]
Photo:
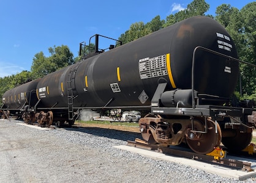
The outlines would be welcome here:
[[[11,115],[22,115],[21,110],[24,106],[35,106],[38,99],[36,97],[36,87],[40,79],[26,82],[18,87],[7,90],[2,95],[3,106]]]

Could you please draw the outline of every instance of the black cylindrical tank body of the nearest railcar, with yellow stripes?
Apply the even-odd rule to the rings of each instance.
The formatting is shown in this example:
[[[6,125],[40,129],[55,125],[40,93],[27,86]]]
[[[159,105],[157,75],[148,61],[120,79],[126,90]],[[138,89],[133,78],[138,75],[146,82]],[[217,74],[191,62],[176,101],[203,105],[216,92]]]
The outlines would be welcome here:
[[[39,82],[37,96],[47,107],[66,107],[71,94],[74,107],[150,106],[159,82],[168,82],[166,90],[191,88],[197,46],[238,57],[224,27],[195,16],[48,74]],[[238,74],[238,63],[199,51],[195,90],[229,98]]]

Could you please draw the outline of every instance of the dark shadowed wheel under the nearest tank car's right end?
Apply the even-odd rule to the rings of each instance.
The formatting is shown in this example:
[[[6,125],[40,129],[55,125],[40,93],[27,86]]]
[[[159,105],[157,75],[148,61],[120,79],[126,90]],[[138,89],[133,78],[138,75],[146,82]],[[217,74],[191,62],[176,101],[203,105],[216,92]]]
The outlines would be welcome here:
[[[252,133],[241,133],[239,129],[233,129],[234,137],[223,137],[222,143],[230,152],[241,151],[252,141]]]

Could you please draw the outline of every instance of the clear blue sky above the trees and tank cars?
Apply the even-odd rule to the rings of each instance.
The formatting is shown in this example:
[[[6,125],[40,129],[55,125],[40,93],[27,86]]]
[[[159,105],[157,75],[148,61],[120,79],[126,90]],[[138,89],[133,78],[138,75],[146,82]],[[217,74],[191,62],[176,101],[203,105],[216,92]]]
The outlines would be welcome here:
[[[30,71],[34,55],[48,48],[67,45],[74,57],[79,43],[94,34],[118,39],[139,21],[148,23],[157,15],[161,20],[183,10],[192,0],[130,0],[130,1],[56,1],[0,0],[0,77]],[[239,10],[249,0],[206,0],[215,15],[220,4]]]

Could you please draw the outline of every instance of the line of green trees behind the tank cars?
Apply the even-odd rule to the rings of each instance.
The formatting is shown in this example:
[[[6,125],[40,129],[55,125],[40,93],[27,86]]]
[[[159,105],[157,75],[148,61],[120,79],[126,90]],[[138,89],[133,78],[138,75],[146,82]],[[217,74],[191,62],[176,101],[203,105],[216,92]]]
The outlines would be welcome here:
[[[157,15],[148,23],[137,22],[130,25],[129,30],[121,34],[118,39],[122,41],[122,44],[129,43],[191,16],[209,16],[227,29],[235,41],[239,59],[256,64],[256,2],[245,5],[241,10],[229,4],[219,5],[216,9],[216,16],[205,15],[209,7],[205,0],[194,0],[187,5],[186,9],[174,15],[168,15],[165,20],[161,20],[160,16]],[[79,56],[73,57],[73,53],[66,45],[53,46],[48,51],[50,52],[48,57],[42,51],[35,54],[32,59],[31,71],[21,71],[21,73],[12,76],[0,77],[0,96],[10,88],[24,84],[30,79],[46,76],[80,60]],[[236,96],[240,99],[256,100],[256,69],[241,64],[240,70],[241,87],[238,85],[236,88]],[[0,101],[0,103],[2,102]]]

